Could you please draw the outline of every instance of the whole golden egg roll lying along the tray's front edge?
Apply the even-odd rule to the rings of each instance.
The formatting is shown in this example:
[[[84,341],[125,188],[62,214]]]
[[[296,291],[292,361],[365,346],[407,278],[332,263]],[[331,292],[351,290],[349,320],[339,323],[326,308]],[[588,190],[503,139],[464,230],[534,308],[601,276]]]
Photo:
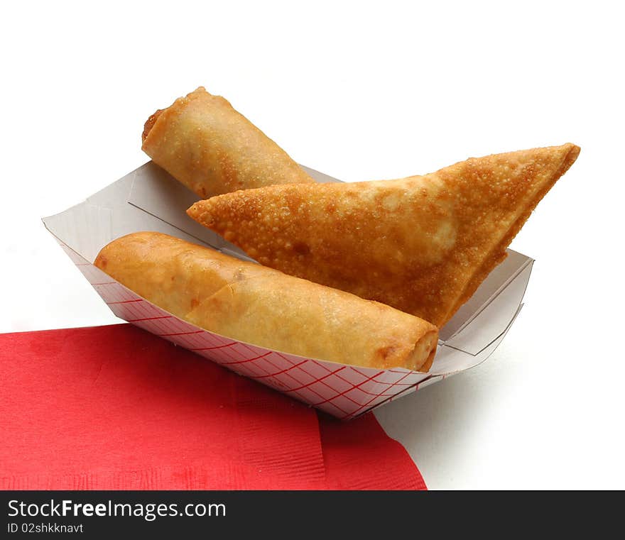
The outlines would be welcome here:
[[[229,338],[366,368],[427,371],[432,324],[161,233],[102,248],[98,268],[171,314]]]

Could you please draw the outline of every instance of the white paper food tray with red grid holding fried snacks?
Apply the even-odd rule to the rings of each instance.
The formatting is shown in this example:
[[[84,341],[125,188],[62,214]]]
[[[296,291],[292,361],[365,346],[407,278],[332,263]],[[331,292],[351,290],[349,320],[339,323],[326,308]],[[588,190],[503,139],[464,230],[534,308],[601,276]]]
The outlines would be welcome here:
[[[319,182],[337,182],[304,169]],[[249,260],[239,248],[187,216],[186,209],[196,200],[195,194],[148,162],[43,223],[116,316],[340,419],[358,417],[483,362],[522,307],[533,260],[508,250],[504,263],[440,330],[430,373],[376,370],[303,358],[213,334],[138,297],[92,265],[107,243],[136,231],[167,233]]]

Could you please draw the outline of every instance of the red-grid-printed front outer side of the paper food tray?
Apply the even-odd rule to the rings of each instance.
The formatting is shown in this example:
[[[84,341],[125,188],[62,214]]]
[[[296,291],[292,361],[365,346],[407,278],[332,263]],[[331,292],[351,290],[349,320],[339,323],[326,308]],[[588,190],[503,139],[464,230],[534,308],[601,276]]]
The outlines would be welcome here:
[[[213,334],[138,297],[67,246],[62,248],[119,318],[340,419],[364,414],[432,379],[401,368],[376,370],[302,358]]]

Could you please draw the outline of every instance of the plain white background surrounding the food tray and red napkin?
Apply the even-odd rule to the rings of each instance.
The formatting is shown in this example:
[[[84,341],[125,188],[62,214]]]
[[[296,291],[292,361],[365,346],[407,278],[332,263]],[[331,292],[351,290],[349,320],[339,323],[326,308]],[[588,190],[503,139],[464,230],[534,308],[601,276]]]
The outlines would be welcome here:
[[[504,343],[378,417],[433,489],[625,487],[619,3],[11,5],[0,331],[116,322],[40,217],[145,162],[143,122],[200,84],[347,181],[570,141],[511,246],[536,264]]]

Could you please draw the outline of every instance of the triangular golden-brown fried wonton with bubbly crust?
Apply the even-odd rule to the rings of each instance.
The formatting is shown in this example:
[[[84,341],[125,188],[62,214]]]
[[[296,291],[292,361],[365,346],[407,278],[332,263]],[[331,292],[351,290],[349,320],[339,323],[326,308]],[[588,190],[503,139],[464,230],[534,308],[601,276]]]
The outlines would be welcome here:
[[[188,214],[263,265],[442,326],[579,153],[569,143],[401,180],[249,189]]]

